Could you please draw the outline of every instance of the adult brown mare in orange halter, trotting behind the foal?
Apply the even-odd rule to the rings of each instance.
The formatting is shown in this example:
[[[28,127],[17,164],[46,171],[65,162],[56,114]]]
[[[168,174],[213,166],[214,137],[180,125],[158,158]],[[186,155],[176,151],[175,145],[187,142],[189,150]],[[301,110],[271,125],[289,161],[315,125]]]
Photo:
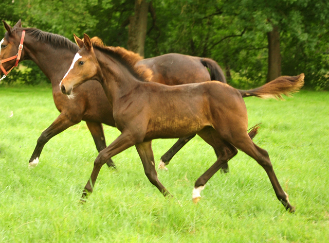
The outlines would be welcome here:
[[[67,71],[72,58],[79,50],[75,43],[68,39],[34,28],[22,28],[21,20],[11,28],[6,22],[7,30],[2,40],[0,60],[15,56],[19,48],[22,31],[25,30],[24,48],[21,60],[34,61],[52,84],[52,96],[56,108],[61,112],[56,120],[42,132],[34,152],[29,160],[29,166],[35,167],[45,144],[53,136],[61,133],[72,125],[85,120],[94,138],[96,148],[101,151],[106,147],[102,124],[115,127],[112,107],[104,94],[102,86],[95,80],[90,80],[76,90],[75,100],[68,99],[59,89],[60,80]],[[3,63],[8,71],[15,60]],[[181,54],[166,54],[159,57],[140,59],[136,66],[146,65],[152,69],[151,81],[175,85],[191,82],[220,80],[226,83],[221,67],[209,58],[191,57]],[[208,67],[210,74],[205,67]],[[0,71],[1,74],[1,71]],[[90,92],[90,90],[93,92]],[[180,138],[175,145],[161,157],[161,165],[169,163],[178,150],[193,136]],[[109,160],[108,166],[114,165]],[[227,168],[227,165],[225,166]]]

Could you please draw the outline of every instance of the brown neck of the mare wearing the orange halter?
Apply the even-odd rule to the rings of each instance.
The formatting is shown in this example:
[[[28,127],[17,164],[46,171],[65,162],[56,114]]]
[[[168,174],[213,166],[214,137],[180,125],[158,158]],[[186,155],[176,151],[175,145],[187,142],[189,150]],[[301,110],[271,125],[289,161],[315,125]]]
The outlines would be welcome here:
[[[67,47],[54,48],[50,44],[36,41],[28,34],[24,41],[24,50],[24,59],[35,62],[51,81],[52,86],[60,83],[75,56],[75,51]]]

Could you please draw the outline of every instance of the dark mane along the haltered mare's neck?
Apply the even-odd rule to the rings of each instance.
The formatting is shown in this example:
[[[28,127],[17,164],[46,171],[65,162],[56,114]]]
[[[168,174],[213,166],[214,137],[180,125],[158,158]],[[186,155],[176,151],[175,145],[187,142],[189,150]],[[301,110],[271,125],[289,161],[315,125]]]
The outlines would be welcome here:
[[[79,51],[79,47],[71,42],[66,37],[60,36],[59,34],[49,33],[36,28],[22,28],[26,33],[29,33],[32,37],[36,38],[44,44],[50,44],[54,48],[66,47],[72,51]]]

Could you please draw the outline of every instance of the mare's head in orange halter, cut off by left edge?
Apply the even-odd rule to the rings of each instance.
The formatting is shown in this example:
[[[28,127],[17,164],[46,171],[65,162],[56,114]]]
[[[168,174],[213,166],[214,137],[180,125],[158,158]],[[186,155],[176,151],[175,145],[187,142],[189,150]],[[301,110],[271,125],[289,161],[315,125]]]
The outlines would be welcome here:
[[[5,29],[7,32],[5,33],[4,39],[0,42],[0,61],[3,61],[7,58],[15,57],[19,50],[19,45],[22,37],[22,23],[19,20],[14,27],[10,27],[5,21],[3,21]],[[23,49],[24,52],[24,49]],[[22,54],[23,56],[24,54]],[[12,59],[7,62],[2,62],[3,67],[6,71],[10,70],[15,65],[16,59]],[[0,69],[0,74],[3,71]]]

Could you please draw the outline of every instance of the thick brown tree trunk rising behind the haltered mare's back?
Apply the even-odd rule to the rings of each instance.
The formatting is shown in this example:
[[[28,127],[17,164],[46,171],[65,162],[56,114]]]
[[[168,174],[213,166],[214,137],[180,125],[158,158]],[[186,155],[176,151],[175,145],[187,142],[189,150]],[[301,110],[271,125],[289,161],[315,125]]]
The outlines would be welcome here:
[[[128,33],[128,49],[144,57],[149,4],[147,0],[135,0],[135,14],[131,16]]]

